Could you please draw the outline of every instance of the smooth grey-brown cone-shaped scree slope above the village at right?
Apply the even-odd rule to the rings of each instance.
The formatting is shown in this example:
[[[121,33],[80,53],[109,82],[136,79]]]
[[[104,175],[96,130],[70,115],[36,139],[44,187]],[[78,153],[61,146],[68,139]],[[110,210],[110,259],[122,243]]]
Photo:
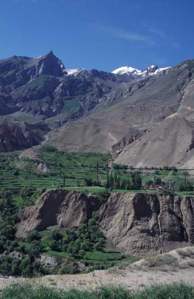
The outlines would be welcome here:
[[[184,168],[191,157],[194,157],[194,124],[184,118],[169,116],[126,146],[115,162],[137,167],[176,165]],[[194,159],[188,168],[194,168]]]

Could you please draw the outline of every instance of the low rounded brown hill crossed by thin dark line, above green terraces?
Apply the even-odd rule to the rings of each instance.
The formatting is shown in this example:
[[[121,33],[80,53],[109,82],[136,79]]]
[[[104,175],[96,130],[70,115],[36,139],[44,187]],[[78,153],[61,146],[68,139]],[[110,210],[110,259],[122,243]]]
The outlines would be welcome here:
[[[49,145],[63,151],[100,151],[110,152],[116,157],[116,151],[145,134],[133,127],[117,124],[114,120],[91,119],[66,123],[55,130],[48,139]]]

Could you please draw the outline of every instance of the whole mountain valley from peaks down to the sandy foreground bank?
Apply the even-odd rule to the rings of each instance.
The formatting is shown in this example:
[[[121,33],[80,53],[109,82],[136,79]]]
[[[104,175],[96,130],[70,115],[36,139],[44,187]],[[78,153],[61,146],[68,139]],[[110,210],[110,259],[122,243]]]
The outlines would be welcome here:
[[[0,61],[2,275],[135,269],[192,248],[193,82],[193,59],[110,73],[52,51]]]

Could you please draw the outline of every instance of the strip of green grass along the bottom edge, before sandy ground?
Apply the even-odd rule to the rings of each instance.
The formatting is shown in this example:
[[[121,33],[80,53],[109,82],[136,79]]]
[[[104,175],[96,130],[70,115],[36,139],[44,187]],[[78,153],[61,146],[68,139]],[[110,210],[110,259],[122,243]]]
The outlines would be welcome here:
[[[0,299],[193,299],[194,288],[186,283],[159,284],[132,292],[122,285],[101,285],[95,290],[59,290],[44,285],[13,284],[2,290]]]

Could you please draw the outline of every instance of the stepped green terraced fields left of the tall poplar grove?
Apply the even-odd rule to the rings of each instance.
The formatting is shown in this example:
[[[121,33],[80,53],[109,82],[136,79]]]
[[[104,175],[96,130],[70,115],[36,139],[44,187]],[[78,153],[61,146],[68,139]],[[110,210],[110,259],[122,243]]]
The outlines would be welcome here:
[[[12,190],[17,201],[21,201],[17,192],[24,186],[31,184],[37,190],[46,188],[47,190],[63,187],[63,178],[59,177],[60,172],[68,176],[65,179],[65,187],[67,189],[85,190],[89,187],[78,187],[77,180],[81,183],[84,176],[90,176],[96,179],[96,164],[104,166],[109,155],[105,154],[86,154],[86,153],[61,153],[40,151],[40,155],[44,158],[45,163],[51,169],[51,174],[47,173],[43,176],[38,175],[37,165],[39,163],[33,161],[20,161],[18,159],[19,152],[12,154],[0,154],[0,158],[4,162],[0,163],[0,189],[6,188]],[[60,165],[60,166],[59,166]],[[18,169],[18,175],[13,174],[13,169]],[[101,183],[106,181],[106,171],[100,171],[98,174]],[[71,178],[72,177],[72,178]],[[91,187],[90,187],[91,188]],[[103,187],[92,187],[91,190],[98,192]],[[88,191],[86,191],[88,192]]]

